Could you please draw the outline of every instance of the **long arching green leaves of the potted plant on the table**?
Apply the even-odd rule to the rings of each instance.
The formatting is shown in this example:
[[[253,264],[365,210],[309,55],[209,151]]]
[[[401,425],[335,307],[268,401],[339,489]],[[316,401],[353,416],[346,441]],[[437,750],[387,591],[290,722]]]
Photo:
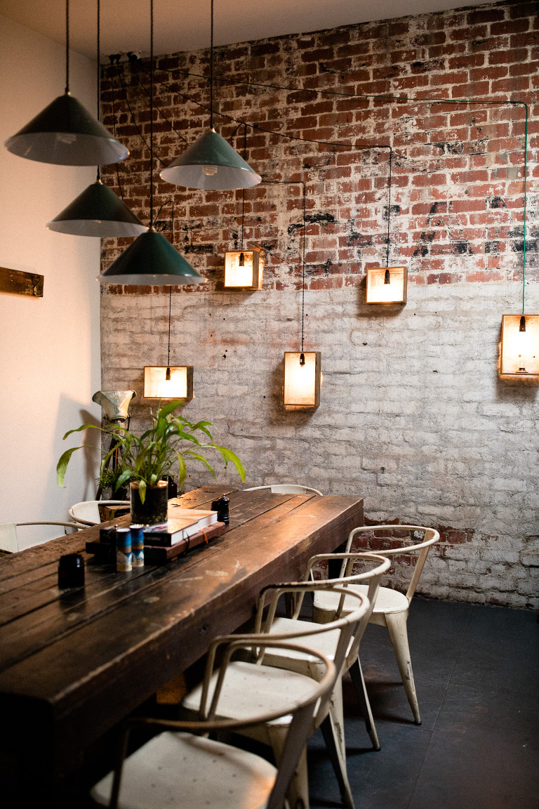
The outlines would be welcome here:
[[[119,489],[127,481],[139,481],[138,491],[142,503],[145,502],[146,489],[157,485],[158,481],[167,472],[170,472],[175,464],[178,464],[180,486],[187,477],[187,460],[200,461],[215,477],[211,464],[204,456],[207,450],[220,452],[225,461],[225,468],[229,462],[234,464],[239,477],[242,478],[242,481],[245,481],[245,470],[238,455],[235,455],[232,450],[213,442],[213,435],[208,429],[214,426],[211,421],[197,421],[196,424],[192,424],[183,416],[175,415],[175,410],[179,408],[180,404],[183,404],[183,400],[176,400],[159,406],[157,413],[153,416],[153,425],[140,438],[130,430],[116,424],[105,428],[96,427],[93,424],[83,424],[76,430],[69,430],[65,434],[64,440],[68,435],[80,433],[81,430],[87,430],[88,428],[100,430],[102,433],[113,436],[116,439],[116,447],[112,447],[105,454],[100,473],[103,474],[107,460],[120,447],[121,473],[116,480],[116,489]],[[57,464],[58,485],[64,485],[65,470],[71,455],[78,449],[82,449],[82,447],[72,447],[61,455],[61,459]]]

